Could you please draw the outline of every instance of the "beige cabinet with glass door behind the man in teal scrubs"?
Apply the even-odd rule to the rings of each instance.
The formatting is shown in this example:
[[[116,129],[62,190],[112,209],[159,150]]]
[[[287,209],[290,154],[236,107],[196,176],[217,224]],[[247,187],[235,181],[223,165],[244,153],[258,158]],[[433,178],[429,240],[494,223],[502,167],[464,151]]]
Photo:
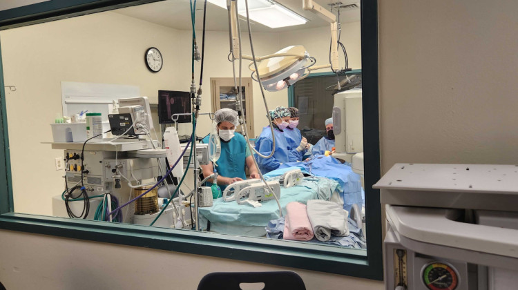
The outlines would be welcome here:
[[[252,79],[243,77],[241,81],[241,91],[243,99],[244,120],[247,123],[248,137],[255,137],[253,132],[253,97]],[[221,108],[231,108],[236,110],[236,88],[232,77],[211,77],[211,98],[212,110],[215,112]],[[241,131],[241,128],[236,128]]]

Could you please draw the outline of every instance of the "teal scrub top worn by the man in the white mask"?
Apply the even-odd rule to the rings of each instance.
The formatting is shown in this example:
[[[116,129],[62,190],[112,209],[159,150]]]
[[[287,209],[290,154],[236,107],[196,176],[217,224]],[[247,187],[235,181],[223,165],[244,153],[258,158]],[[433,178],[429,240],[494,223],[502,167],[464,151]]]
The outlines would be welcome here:
[[[221,155],[220,159],[216,161],[215,169],[218,171],[218,175],[224,177],[240,177],[243,180],[247,179],[247,175],[244,173],[244,166],[247,164],[245,160],[251,155],[250,150],[247,146],[247,140],[244,139],[240,133],[234,133],[234,137],[228,142],[220,138],[221,141]],[[209,143],[210,135],[207,135],[202,139],[204,144]],[[211,182],[207,182],[207,186],[211,186]],[[227,185],[218,185],[221,191],[227,188]]]

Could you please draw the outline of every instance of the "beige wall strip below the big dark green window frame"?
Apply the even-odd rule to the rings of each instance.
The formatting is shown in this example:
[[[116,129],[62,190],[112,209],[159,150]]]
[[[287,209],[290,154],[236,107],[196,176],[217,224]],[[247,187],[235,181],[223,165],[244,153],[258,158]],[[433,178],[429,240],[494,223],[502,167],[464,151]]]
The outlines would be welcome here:
[[[383,282],[202,255],[0,231],[0,281],[17,289],[185,289],[216,271],[296,271],[306,289],[381,290]]]

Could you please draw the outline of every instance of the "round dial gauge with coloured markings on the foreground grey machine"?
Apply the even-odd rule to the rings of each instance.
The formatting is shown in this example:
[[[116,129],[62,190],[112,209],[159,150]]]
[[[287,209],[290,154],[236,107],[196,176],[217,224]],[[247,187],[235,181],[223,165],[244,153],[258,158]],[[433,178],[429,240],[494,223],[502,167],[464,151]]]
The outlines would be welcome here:
[[[430,290],[454,290],[459,284],[457,271],[442,262],[432,262],[423,268],[423,283]]]

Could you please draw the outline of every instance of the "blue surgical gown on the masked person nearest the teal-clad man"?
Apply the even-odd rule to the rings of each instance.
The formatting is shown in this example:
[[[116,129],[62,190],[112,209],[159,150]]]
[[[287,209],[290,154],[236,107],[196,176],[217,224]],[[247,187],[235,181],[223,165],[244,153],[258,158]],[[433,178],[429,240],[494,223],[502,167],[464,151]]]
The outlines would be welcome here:
[[[255,155],[259,170],[262,173],[269,173],[277,169],[281,163],[289,162],[290,146],[286,141],[286,137],[278,128],[274,128],[275,135],[275,153],[269,158],[262,158]],[[256,139],[256,150],[262,155],[270,155],[272,151],[273,140],[271,137],[270,126],[262,128],[261,135]]]

